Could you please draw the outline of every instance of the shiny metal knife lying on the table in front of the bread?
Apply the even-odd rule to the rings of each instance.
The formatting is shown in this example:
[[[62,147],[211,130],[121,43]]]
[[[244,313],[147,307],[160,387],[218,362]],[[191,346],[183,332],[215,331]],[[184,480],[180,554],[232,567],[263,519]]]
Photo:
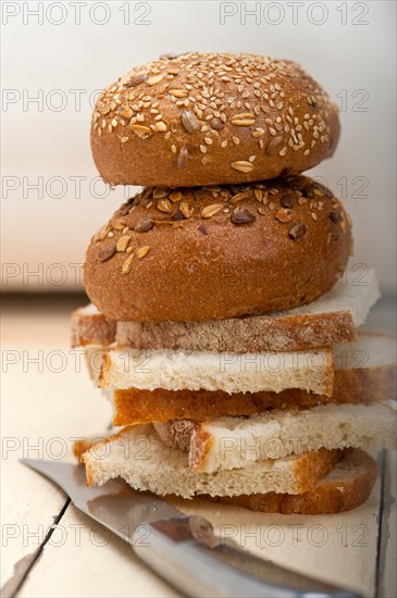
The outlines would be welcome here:
[[[117,478],[87,487],[80,465],[23,459],[58,484],[72,502],[132,545],[136,555],[185,596],[237,598],[361,598],[258,559],[214,535],[202,516],[186,516],[165,500]]]

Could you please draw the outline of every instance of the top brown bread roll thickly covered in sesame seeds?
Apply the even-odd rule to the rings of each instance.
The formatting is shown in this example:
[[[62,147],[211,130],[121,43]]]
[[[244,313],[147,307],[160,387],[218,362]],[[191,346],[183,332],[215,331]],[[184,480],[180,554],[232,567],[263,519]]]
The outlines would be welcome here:
[[[298,64],[257,54],[168,54],[98,99],[91,147],[113,185],[274,178],[331,157],[338,110]]]

